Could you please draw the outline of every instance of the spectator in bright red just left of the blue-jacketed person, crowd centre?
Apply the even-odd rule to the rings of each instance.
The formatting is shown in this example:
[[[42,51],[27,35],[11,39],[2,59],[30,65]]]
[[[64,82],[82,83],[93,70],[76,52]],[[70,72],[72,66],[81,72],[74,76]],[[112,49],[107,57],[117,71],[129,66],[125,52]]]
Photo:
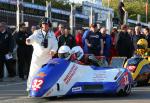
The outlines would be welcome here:
[[[82,45],[82,35],[83,35],[83,30],[82,28],[80,28],[75,36],[75,40],[76,40],[76,44],[78,46],[80,46],[81,48],[83,48],[83,45]]]

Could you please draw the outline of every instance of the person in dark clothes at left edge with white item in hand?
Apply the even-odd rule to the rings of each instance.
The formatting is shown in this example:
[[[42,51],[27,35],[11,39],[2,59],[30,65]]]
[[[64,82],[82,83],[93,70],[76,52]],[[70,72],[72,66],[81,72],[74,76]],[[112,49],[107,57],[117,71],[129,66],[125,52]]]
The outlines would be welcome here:
[[[4,64],[8,70],[8,76],[14,77],[15,70],[12,63],[9,61],[12,59],[13,52],[13,39],[10,32],[8,32],[6,23],[0,22],[0,81],[3,81],[4,76]]]

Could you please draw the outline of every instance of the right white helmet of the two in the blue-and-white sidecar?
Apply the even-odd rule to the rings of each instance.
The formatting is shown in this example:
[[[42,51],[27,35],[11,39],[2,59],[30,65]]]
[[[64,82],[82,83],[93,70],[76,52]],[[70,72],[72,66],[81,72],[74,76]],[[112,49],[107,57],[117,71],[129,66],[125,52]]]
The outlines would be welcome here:
[[[76,58],[78,60],[80,60],[83,57],[83,55],[84,55],[83,49],[80,46],[73,47],[71,49],[71,52],[72,52],[72,54],[76,55]]]

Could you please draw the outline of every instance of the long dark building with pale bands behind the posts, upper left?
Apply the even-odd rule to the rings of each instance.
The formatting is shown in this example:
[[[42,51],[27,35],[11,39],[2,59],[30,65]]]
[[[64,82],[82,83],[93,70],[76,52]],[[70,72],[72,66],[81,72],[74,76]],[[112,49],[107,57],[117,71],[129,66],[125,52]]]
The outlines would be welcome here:
[[[9,25],[16,24],[16,0],[0,0],[0,21],[5,21]],[[23,3],[24,21],[28,21],[29,25],[36,25],[39,19],[45,16],[45,6],[33,4],[29,2]],[[52,8],[52,21],[69,25],[70,12],[57,8]],[[81,13],[76,13],[76,25],[88,25],[88,17]],[[87,23],[86,23],[87,22]]]

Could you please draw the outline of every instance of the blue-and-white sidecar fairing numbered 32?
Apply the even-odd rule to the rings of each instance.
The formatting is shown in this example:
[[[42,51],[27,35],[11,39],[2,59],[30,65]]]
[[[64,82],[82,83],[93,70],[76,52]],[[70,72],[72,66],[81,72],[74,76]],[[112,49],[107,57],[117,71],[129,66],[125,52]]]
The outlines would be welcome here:
[[[30,96],[117,93],[131,82],[131,74],[124,68],[85,66],[56,58],[35,75]]]

